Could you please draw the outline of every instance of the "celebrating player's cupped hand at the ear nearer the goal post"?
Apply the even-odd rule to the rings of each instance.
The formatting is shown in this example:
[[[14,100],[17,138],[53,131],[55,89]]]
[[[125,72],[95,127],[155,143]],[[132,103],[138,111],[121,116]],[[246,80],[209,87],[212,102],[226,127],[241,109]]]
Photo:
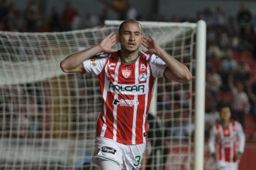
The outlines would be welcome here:
[[[157,42],[154,40],[154,38],[150,35],[148,36],[150,39],[144,36],[142,45],[147,48],[148,50],[143,50],[146,54],[156,54],[157,49],[160,48],[160,46],[157,44]]]

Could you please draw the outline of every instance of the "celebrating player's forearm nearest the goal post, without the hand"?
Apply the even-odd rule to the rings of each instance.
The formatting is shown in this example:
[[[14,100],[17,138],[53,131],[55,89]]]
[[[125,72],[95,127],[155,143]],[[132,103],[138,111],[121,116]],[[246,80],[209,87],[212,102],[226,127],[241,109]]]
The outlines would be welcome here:
[[[185,65],[170,56],[163,48],[158,48],[156,51],[156,55],[160,57],[169,68],[169,70],[166,71],[166,78],[182,83],[192,79],[192,75]]]

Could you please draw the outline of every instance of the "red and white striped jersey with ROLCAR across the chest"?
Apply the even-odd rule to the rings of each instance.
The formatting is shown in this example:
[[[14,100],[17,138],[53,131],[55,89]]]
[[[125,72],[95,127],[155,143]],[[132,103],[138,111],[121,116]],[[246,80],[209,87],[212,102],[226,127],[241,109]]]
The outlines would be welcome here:
[[[102,110],[97,120],[96,136],[122,144],[147,141],[147,113],[154,80],[163,77],[167,67],[154,54],[140,52],[131,62],[120,57],[120,51],[101,54],[82,63],[84,71],[99,77]]]

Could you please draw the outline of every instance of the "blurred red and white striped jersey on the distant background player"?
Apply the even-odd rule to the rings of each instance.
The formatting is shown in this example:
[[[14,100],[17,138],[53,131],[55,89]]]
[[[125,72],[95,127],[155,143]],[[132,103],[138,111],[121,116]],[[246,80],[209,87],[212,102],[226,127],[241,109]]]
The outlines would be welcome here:
[[[217,159],[236,162],[236,154],[244,152],[245,135],[241,124],[232,120],[228,127],[216,123],[209,134],[209,151],[216,153]]]

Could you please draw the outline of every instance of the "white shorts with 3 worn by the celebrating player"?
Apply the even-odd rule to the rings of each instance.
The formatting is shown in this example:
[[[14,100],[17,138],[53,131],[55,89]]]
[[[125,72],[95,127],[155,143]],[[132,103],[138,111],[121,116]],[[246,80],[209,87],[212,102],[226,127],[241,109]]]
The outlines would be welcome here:
[[[112,139],[96,136],[96,155],[92,162],[99,165],[99,159],[112,161],[123,170],[139,170],[146,143],[121,144]]]

